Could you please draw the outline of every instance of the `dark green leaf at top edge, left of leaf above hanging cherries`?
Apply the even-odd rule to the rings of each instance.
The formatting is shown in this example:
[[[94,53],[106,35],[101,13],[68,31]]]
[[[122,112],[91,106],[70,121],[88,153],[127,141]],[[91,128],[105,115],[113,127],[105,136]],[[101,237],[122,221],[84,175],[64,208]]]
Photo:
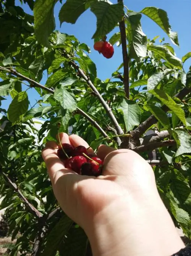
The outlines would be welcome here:
[[[63,22],[76,23],[79,16],[89,8],[90,3],[91,0],[67,0],[60,9],[60,25]]]

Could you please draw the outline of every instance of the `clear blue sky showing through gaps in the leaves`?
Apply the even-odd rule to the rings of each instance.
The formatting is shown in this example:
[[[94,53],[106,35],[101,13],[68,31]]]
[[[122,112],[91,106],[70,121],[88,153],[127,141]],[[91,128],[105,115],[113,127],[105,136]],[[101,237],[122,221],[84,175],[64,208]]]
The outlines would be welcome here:
[[[15,1],[16,4],[20,5],[19,0]],[[63,1],[65,2],[65,1]],[[113,3],[117,3],[117,0],[112,0]],[[135,12],[141,11],[143,8],[148,6],[155,6],[165,10],[168,13],[168,18],[172,26],[172,30],[178,33],[180,47],[173,45],[175,48],[176,56],[181,58],[183,55],[191,51],[191,0],[124,0],[124,4]],[[118,66],[122,63],[121,48],[114,46],[115,53],[112,59],[106,59],[102,55],[99,55],[97,51],[94,51],[93,45],[94,41],[91,39],[92,35],[96,29],[96,18],[93,13],[87,10],[79,19],[76,24],[63,23],[60,28],[60,22],[58,20],[58,13],[61,8],[61,3],[58,2],[55,6],[55,19],[56,19],[56,29],[62,33],[67,33],[69,35],[74,35],[78,38],[81,43],[86,43],[91,48],[90,58],[97,66],[97,76],[105,80],[110,78],[113,71],[115,71]],[[31,13],[28,5],[23,5],[25,12]],[[163,32],[163,30],[157,26],[152,20],[142,16],[142,30],[147,35],[147,38],[154,38],[155,36],[160,36],[160,38],[165,38],[166,43],[171,43],[168,36]],[[109,35],[110,38],[114,32],[118,29],[113,30]],[[159,39],[160,39],[159,38]],[[159,41],[158,41],[159,43]],[[186,71],[188,71],[189,66],[191,66],[191,59],[188,59],[184,65]],[[47,76],[44,76],[41,83],[45,84]],[[38,94],[34,89],[30,92],[29,100],[31,105],[36,102]],[[2,101],[2,107],[7,109],[10,104],[10,97],[6,101]]]

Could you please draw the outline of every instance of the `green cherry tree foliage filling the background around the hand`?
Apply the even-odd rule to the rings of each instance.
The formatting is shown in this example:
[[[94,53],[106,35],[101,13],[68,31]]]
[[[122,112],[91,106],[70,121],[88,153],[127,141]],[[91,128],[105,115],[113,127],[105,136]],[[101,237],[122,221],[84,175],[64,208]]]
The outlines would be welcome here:
[[[112,5],[67,0],[62,5],[61,24],[75,23],[90,8],[97,17],[95,41],[116,26],[120,31],[125,26],[125,38],[117,32],[110,43],[128,47],[128,58],[112,78],[102,81],[88,55],[89,47],[73,35],[55,31],[57,1],[20,2],[29,5],[34,17],[14,0],[0,1],[0,106],[7,96],[12,97],[8,110],[0,108],[4,125],[0,130],[0,194],[5,197],[0,208],[8,207],[12,238],[21,235],[10,255],[85,255],[87,237],[58,208],[40,154],[47,141],[55,140],[57,122],[61,131],[72,129],[94,150],[101,143],[125,147],[149,160],[156,149],[159,164],[155,162],[153,169],[160,196],[175,225],[191,238],[191,71],[186,74],[183,69],[191,53],[181,60],[170,44],[161,40],[157,45],[157,37],[147,39],[141,28],[144,14],[178,45],[167,13],[155,7],[139,13],[124,11],[122,1]],[[123,79],[125,65],[128,81]],[[43,86],[44,74],[48,78]],[[130,91],[128,99],[124,88]],[[33,91],[40,97],[35,106],[28,98]],[[39,131],[34,118],[44,120]],[[159,135],[148,138],[149,129]],[[165,136],[160,137],[163,132]]]

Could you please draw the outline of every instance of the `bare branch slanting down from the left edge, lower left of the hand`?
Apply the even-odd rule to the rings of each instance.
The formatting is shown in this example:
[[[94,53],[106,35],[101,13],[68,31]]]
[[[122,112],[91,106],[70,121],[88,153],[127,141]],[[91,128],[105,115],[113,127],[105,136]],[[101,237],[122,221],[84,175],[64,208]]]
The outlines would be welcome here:
[[[6,179],[6,181],[9,183],[9,185],[15,190],[15,192],[18,193],[19,198],[21,198],[21,200],[24,202],[24,205],[29,209],[29,211],[37,218],[41,218],[42,214],[33,205],[31,205],[31,203],[29,203],[29,201],[24,197],[24,195],[21,193],[21,191],[15,185],[15,183],[13,183],[4,172],[2,172],[2,174],[3,174],[4,178]]]

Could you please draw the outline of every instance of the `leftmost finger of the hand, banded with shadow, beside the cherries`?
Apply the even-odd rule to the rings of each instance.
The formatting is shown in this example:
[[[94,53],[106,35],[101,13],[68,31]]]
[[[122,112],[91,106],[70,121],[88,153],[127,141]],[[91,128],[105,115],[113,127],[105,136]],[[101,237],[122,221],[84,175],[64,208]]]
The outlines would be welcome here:
[[[70,169],[65,168],[63,162],[59,159],[54,149],[45,148],[42,150],[42,158],[46,164],[50,180],[54,185],[58,178],[66,173],[74,173]]]

